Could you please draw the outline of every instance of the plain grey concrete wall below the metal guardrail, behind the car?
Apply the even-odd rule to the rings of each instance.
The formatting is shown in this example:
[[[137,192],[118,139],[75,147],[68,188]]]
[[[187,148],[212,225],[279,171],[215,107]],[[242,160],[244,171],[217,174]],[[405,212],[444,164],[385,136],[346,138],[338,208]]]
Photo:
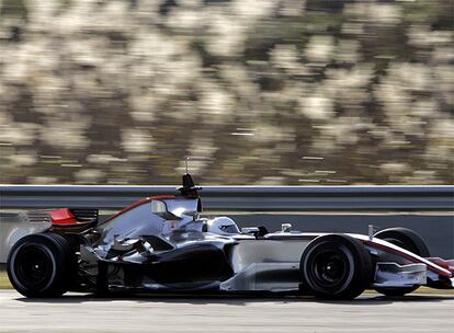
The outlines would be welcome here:
[[[428,244],[431,255],[454,259],[454,215],[449,214],[228,214],[240,227],[264,226],[269,231],[292,223],[300,231],[367,233],[367,226],[379,229],[405,227],[418,232]],[[0,216],[0,263],[7,261],[11,234],[37,232],[19,223],[15,214]]]

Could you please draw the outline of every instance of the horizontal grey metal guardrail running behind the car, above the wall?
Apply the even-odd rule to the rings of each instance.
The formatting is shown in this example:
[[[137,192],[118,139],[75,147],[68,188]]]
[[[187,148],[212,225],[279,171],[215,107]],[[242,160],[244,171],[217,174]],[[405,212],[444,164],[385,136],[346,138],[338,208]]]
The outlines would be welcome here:
[[[121,209],[174,186],[0,185],[1,209]],[[204,186],[206,210],[454,210],[454,186]]]

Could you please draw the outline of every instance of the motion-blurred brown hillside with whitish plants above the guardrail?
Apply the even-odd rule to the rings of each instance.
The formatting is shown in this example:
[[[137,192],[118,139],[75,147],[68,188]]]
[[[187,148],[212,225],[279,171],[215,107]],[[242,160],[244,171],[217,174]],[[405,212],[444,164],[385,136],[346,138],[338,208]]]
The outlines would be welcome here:
[[[0,0],[0,182],[452,184],[452,0]]]

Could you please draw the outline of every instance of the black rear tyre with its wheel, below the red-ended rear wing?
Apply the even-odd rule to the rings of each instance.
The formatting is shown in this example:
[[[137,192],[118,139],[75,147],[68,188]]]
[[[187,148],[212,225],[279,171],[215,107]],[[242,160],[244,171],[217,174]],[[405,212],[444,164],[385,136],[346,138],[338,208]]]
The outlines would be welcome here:
[[[77,257],[60,234],[30,234],[12,246],[7,269],[12,286],[23,296],[57,297],[75,279]]]

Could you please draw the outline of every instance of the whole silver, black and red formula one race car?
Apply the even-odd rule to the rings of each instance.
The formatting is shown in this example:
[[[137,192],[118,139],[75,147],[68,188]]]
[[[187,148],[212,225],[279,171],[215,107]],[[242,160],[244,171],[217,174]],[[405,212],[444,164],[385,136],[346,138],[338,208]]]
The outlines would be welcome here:
[[[191,175],[175,196],[155,196],[99,221],[95,209],[29,211],[38,233],[21,238],[8,275],[26,297],[86,292],[285,292],[352,299],[366,288],[405,295],[454,287],[454,260],[430,257],[404,228],[368,236],[305,233],[283,225],[241,231],[227,217],[202,218]],[[370,228],[371,229],[371,228]]]

